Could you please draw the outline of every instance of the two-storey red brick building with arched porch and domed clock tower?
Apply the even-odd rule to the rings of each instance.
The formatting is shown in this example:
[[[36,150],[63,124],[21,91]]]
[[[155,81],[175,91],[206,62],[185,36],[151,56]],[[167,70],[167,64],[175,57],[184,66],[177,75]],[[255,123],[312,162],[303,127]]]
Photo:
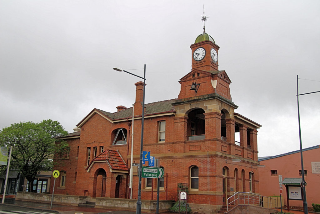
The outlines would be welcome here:
[[[178,98],[145,104],[143,150],[159,159],[164,169],[160,200],[176,200],[177,184],[184,183],[191,208],[220,209],[235,192],[259,193],[257,129],[261,125],[235,113],[231,81],[218,70],[220,47],[212,37],[204,32],[190,48],[192,69],[179,81]],[[70,151],[59,167],[54,193],[130,198],[132,132],[133,163],[140,158],[143,82],[135,85],[134,110],[93,109],[75,133],[63,138]],[[235,141],[235,133],[240,142]],[[133,170],[132,198],[136,199],[137,167]],[[156,185],[156,179],[142,178],[141,199],[156,199]]]

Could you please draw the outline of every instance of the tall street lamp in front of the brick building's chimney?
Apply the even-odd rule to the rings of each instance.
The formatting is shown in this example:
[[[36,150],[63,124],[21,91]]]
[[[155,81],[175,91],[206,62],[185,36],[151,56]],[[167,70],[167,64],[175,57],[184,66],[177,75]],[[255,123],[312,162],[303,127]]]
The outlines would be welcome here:
[[[113,68],[113,70],[116,71],[123,71],[125,73],[130,73],[128,71],[125,71],[121,68]],[[143,100],[142,100],[142,118],[141,118],[141,141],[140,141],[140,164],[139,164],[139,168],[140,168],[140,172],[139,172],[139,188],[138,188],[138,201],[137,201],[137,210],[136,213],[137,214],[141,214],[141,169],[142,169],[142,152],[143,152],[143,122],[144,122],[144,97],[145,97],[145,87],[146,87],[146,64],[144,64],[144,76],[140,77],[136,74],[130,73],[133,76],[139,77],[141,79],[143,79]],[[131,154],[132,156],[132,154]],[[132,163],[131,163],[132,165]],[[132,167],[132,166],[130,166]]]

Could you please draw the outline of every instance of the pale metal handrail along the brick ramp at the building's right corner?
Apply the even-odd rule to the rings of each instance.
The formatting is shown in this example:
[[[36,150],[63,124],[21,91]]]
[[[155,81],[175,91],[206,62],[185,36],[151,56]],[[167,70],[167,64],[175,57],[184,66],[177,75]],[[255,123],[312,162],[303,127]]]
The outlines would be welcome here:
[[[234,198],[232,200],[232,198]],[[263,201],[263,198],[266,198],[267,201]],[[270,202],[269,202],[270,199]],[[274,203],[272,203],[272,200],[274,200]],[[259,204],[260,207],[263,206],[263,203],[270,203],[270,207],[272,207],[272,205],[274,204],[276,207],[276,199],[271,198],[271,197],[266,197],[266,196],[262,196],[256,193],[249,193],[249,192],[237,192],[235,194],[233,194],[232,196],[230,196],[227,201],[227,211],[229,209],[229,205],[230,204],[236,204],[236,201],[238,201],[238,205],[244,205],[244,204],[252,204],[252,205],[257,205]],[[247,202],[246,202],[247,201]]]

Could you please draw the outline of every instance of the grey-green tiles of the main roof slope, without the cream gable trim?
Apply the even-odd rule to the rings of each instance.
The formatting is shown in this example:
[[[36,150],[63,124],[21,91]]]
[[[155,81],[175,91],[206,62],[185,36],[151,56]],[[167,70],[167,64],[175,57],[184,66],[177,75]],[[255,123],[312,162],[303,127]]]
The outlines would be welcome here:
[[[152,115],[152,114],[159,114],[159,113],[174,111],[175,108],[171,105],[171,103],[175,102],[176,100],[177,99],[168,99],[168,100],[163,100],[163,101],[154,102],[154,103],[147,103],[145,104],[145,108],[146,108],[145,115]],[[121,110],[121,111],[117,111],[115,113],[110,113],[107,111],[103,111],[101,109],[97,109],[97,110],[99,110],[102,114],[104,114],[105,116],[109,117],[112,120],[132,117],[132,107]]]

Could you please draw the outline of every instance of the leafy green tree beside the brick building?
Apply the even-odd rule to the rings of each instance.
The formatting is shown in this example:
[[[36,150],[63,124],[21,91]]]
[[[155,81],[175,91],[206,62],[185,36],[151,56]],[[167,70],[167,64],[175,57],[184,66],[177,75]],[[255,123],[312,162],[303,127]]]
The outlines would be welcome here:
[[[15,123],[0,131],[0,146],[12,146],[10,168],[19,169],[29,181],[29,192],[37,172],[52,170],[53,156],[68,148],[65,141],[56,143],[56,137],[66,134],[62,125],[51,119]]]

